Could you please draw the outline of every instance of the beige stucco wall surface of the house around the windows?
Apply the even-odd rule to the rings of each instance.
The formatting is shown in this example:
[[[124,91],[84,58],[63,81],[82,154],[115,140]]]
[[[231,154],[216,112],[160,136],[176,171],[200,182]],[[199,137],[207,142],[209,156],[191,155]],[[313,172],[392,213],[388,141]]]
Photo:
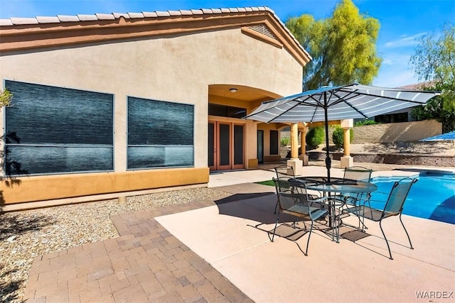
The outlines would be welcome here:
[[[284,96],[301,92],[301,76],[301,65],[287,50],[242,34],[240,28],[0,54],[2,80],[114,94],[115,172],[127,168],[128,96],[195,104],[194,163],[207,167],[210,84],[239,84]],[[3,111],[0,122],[4,126]],[[246,125],[247,161],[255,158],[256,123]]]

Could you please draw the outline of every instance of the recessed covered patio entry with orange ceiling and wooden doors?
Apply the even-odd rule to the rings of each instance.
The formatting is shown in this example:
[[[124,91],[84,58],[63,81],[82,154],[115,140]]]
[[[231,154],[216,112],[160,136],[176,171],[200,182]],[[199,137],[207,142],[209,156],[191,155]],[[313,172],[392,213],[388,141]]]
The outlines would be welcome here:
[[[208,89],[208,167],[242,170],[257,167],[259,123],[242,119],[277,94],[255,87],[213,84]],[[267,137],[268,138],[268,137]],[[269,154],[269,145],[264,153]]]

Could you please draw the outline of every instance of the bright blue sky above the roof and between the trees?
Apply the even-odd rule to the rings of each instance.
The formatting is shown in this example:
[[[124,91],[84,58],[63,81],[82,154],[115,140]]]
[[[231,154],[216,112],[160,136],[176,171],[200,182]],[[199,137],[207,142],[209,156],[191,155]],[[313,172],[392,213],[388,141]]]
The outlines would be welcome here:
[[[0,18],[128,13],[178,9],[268,6],[285,22],[309,13],[316,19],[331,16],[340,0],[0,0]],[[383,62],[374,85],[399,87],[419,82],[410,70],[415,38],[440,33],[455,23],[454,0],[354,0],[360,13],[380,21],[377,42]]]

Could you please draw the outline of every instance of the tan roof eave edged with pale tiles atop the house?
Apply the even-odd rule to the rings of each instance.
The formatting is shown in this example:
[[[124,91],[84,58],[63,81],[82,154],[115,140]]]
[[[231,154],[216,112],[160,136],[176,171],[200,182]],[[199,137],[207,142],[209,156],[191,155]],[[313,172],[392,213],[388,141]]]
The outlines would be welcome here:
[[[0,52],[265,24],[301,66],[311,56],[267,7],[200,9],[0,20]]]

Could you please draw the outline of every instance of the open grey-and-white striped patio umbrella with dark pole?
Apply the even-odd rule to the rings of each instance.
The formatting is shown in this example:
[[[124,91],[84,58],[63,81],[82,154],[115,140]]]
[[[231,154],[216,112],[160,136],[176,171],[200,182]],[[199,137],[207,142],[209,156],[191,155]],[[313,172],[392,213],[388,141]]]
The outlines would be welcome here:
[[[289,97],[264,101],[244,117],[265,123],[319,122],[326,126],[326,168],[330,181],[331,159],[328,152],[328,121],[365,119],[400,109],[425,104],[439,92],[424,92],[358,83],[321,87]]]

